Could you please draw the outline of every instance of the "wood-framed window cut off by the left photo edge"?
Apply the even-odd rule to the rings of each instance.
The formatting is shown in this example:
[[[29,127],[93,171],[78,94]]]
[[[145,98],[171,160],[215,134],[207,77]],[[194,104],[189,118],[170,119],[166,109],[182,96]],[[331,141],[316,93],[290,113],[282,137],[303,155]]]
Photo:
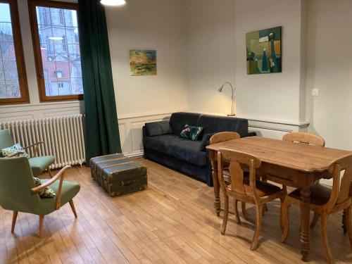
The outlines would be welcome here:
[[[0,0],[0,104],[29,103],[16,0]]]

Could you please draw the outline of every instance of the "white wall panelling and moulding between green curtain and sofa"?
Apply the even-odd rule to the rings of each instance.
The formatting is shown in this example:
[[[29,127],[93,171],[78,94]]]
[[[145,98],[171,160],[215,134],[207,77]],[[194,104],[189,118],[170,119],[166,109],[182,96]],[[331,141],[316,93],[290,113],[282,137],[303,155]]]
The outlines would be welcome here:
[[[146,122],[170,119],[171,113],[145,114],[118,118],[122,152],[128,157],[143,156],[142,127]]]

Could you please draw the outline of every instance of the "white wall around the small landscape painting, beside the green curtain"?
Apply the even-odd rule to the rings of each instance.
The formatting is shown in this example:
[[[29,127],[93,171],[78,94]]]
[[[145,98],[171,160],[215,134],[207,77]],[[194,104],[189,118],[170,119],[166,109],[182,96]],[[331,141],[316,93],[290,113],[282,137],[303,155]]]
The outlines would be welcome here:
[[[106,19],[119,118],[187,108],[183,1],[130,0]],[[130,49],[156,49],[158,75],[130,76]]]

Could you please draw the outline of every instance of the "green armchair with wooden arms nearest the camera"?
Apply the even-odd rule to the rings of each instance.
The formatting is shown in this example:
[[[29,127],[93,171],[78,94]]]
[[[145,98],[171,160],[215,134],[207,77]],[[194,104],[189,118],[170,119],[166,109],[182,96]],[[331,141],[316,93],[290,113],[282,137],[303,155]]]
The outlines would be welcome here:
[[[11,232],[15,230],[18,212],[39,215],[39,237],[42,235],[44,215],[70,203],[75,218],[77,213],[73,198],[80,191],[80,184],[63,180],[65,166],[54,177],[42,180],[42,185],[34,187],[32,170],[26,157],[0,158],[0,206],[13,210]],[[54,198],[40,198],[38,192],[50,186],[56,193]]]

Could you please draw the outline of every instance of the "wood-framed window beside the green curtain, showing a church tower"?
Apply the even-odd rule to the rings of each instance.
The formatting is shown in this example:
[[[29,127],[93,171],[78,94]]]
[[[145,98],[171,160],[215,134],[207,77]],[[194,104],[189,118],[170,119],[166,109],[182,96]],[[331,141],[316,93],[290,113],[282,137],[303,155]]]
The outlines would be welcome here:
[[[29,8],[40,101],[83,99],[77,4],[29,0]]]

